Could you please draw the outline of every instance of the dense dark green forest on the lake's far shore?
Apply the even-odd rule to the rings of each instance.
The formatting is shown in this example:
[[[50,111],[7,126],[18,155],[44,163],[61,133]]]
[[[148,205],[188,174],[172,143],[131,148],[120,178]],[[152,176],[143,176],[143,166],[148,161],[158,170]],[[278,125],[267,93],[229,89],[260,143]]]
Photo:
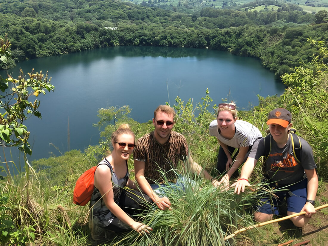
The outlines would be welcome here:
[[[317,51],[306,39],[327,41],[328,23],[327,11],[277,5],[261,11],[204,8],[189,15],[118,0],[0,1],[0,34],[12,44],[9,66],[116,45],[208,47],[257,57],[280,76],[311,60]]]

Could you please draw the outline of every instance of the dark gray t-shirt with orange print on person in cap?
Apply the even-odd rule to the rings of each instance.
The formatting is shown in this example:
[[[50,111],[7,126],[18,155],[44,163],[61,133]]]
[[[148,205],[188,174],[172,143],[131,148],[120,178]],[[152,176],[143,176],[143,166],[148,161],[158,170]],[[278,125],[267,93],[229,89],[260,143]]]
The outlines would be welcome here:
[[[279,185],[294,184],[303,179],[304,169],[317,168],[311,146],[303,138],[300,137],[300,140],[302,146],[301,157],[297,156],[300,164],[294,158],[290,137],[283,148],[279,148],[277,143],[273,139],[271,140],[270,154],[263,167],[264,176],[270,182],[277,182]],[[256,160],[261,156],[265,156],[264,138],[253,145],[249,154],[249,157]]]

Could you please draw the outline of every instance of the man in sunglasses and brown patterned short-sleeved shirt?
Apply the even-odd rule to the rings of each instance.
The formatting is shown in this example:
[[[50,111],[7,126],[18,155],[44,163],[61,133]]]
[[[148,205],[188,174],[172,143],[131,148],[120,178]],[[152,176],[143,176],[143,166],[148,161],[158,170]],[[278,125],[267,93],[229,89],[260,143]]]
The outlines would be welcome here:
[[[170,209],[171,202],[164,196],[159,197],[154,189],[155,183],[164,181],[163,173],[170,182],[176,182],[178,163],[189,163],[191,170],[211,180],[214,186],[219,183],[211,175],[193,161],[188,153],[185,137],[172,131],[174,126],[174,109],[167,105],[159,105],[154,111],[153,124],[155,130],[142,136],[133,150],[135,179],[141,190],[156,203],[161,210]]]

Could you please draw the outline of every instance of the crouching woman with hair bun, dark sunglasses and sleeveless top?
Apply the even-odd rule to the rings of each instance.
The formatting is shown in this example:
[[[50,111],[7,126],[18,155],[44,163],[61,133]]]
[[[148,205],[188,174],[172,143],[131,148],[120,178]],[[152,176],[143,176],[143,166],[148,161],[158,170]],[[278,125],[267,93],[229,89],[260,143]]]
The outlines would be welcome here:
[[[122,124],[112,134],[113,152],[101,161],[94,173],[89,227],[94,240],[113,238],[112,233],[135,230],[150,233],[152,228],[135,221],[132,216],[147,208],[151,199],[136,191],[129,178],[128,163],[134,144],[134,134],[128,124]],[[123,189],[128,187],[134,190]]]

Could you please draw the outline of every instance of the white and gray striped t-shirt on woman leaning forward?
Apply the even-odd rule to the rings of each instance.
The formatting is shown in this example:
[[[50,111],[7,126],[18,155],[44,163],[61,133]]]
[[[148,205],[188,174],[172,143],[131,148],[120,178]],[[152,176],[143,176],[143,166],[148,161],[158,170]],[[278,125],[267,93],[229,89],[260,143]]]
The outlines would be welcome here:
[[[210,135],[217,137],[222,143],[235,148],[252,146],[256,139],[262,137],[260,130],[247,121],[237,120],[235,122],[235,127],[235,136],[232,139],[226,139],[219,133],[217,129],[217,120],[214,120],[210,123]]]

